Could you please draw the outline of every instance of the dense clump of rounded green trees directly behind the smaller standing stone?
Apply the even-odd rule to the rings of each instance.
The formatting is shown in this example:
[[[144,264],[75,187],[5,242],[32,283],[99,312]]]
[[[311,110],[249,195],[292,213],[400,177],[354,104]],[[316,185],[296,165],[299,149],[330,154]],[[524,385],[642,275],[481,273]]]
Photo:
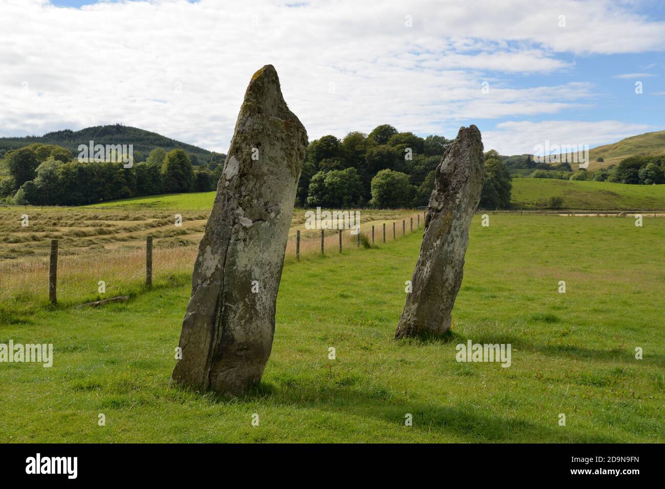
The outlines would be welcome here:
[[[451,144],[444,136],[420,138],[390,124],[369,134],[349,132],[341,140],[323,136],[307,147],[296,205],[381,209],[427,205],[436,167]],[[511,177],[496,151],[485,157],[480,207],[509,207]]]

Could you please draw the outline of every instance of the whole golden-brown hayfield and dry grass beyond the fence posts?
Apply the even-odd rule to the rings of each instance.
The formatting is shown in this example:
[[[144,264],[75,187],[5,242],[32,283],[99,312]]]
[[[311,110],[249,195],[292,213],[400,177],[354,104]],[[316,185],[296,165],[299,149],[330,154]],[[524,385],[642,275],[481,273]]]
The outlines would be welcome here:
[[[21,227],[21,214],[29,215],[29,227]],[[17,215],[15,215],[17,214]],[[295,211],[287,243],[286,258],[295,260],[296,232],[301,230],[301,258],[321,253],[321,231],[305,229],[305,211]],[[362,211],[362,242],[386,241],[402,237],[402,221],[410,233],[410,218],[416,231],[422,213],[412,210]],[[49,246],[59,239],[58,300],[75,304],[125,294],[145,280],[145,239],[154,237],[154,281],[168,280],[177,274],[191,274],[198,242],[205,230],[207,213],[182,212],[182,227],[174,225],[174,212],[109,211],[23,211],[1,213],[0,303],[10,308],[25,304],[45,304],[48,300]],[[6,219],[7,218],[7,219]],[[356,248],[357,237],[342,231],[342,248]],[[325,231],[325,253],[339,249],[338,231]],[[98,282],[106,292],[98,294]]]

